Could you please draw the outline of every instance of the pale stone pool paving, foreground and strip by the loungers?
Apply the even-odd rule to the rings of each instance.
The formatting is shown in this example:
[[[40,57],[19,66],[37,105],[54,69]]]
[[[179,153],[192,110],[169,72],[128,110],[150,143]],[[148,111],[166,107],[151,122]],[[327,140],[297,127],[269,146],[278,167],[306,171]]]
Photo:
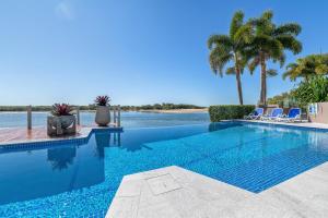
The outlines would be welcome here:
[[[328,129],[328,124],[319,123],[281,124]],[[106,218],[221,217],[328,217],[328,162],[258,194],[176,166],[130,174],[124,177],[106,215]]]

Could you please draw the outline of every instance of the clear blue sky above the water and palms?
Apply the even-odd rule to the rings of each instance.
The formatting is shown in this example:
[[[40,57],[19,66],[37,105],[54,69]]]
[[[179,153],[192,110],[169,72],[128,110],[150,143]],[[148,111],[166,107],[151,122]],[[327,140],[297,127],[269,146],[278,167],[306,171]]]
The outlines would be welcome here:
[[[86,105],[103,94],[120,105],[237,104],[235,77],[211,73],[207,39],[226,34],[236,10],[248,19],[268,9],[303,27],[303,51],[288,62],[327,52],[324,0],[2,0],[0,105]],[[279,75],[268,94],[294,85]],[[259,70],[245,71],[243,88],[255,104]]]

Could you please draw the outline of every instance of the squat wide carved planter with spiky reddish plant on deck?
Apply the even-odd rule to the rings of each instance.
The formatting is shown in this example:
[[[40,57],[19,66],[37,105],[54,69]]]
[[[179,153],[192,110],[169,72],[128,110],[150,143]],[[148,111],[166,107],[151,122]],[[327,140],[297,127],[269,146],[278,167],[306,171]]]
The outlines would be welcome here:
[[[68,104],[52,105],[51,116],[48,116],[48,135],[75,133],[75,116]]]

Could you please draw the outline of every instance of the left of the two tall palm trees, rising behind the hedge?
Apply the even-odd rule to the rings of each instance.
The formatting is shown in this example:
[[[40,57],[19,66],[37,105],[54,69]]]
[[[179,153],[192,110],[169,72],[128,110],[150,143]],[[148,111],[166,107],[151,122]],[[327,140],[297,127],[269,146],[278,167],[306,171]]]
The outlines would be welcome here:
[[[244,104],[241,74],[247,63],[244,48],[249,41],[247,36],[250,31],[251,26],[244,24],[244,13],[237,11],[232,19],[229,35],[212,35],[208,39],[209,61],[214,74],[222,77],[223,68],[229,62],[233,63],[230,68],[226,68],[225,74],[236,76],[241,105]]]

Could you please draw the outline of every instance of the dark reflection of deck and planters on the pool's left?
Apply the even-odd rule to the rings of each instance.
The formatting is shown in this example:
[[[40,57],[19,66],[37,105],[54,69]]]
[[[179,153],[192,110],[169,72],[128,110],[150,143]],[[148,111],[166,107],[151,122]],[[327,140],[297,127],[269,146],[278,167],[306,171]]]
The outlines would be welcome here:
[[[102,183],[105,180],[104,149],[119,145],[120,133],[99,132],[94,135],[95,144],[20,148],[0,154],[0,205]],[[112,143],[112,135],[118,140]]]

